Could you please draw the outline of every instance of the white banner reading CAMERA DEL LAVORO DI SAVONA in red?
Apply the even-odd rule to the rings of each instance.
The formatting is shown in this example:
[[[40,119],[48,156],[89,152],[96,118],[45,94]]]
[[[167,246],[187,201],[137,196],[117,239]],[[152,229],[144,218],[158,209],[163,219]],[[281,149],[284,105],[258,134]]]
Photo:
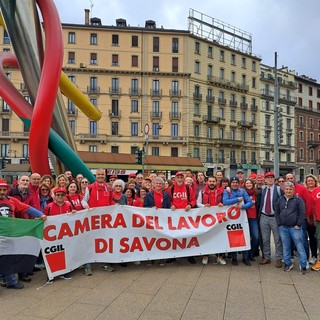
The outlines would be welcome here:
[[[48,217],[49,278],[85,263],[120,263],[250,249],[247,215],[234,206],[171,211],[109,206]]]

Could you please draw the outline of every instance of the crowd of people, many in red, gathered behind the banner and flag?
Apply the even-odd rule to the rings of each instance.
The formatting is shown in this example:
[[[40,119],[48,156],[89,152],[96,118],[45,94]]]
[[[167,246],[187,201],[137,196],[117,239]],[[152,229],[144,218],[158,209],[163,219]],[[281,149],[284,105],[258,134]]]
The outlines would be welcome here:
[[[189,211],[197,207],[234,205],[242,209],[248,219],[251,249],[242,251],[242,262],[246,266],[257,262],[271,263],[271,233],[275,244],[275,267],[289,272],[293,268],[294,255],[298,255],[301,274],[306,274],[312,265],[320,270],[318,251],[320,249],[320,186],[318,179],[308,175],[304,183],[298,184],[295,176],[288,173],[275,177],[273,172],[251,173],[245,177],[242,169],[235,176],[227,178],[223,171],[206,177],[204,172],[176,172],[167,179],[162,173],[130,174],[127,181],[115,175],[107,178],[105,169],[98,169],[96,180],[89,180],[82,174],[72,176],[71,171],[60,174],[55,180],[50,175],[22,175],[10,187],[0,180],[0,215],[29,219],[59,215],[94,207],[114,204],[170,210]],[[5,210],[3,210],[5,207]],[[216,253],[201,257],[202,264],[225,265],[226,258],[233,266],[238,265],[238,253]],[[174,259],[160,260],[159,265]],[[195,257],[188,257],[196,264]],[[137,261],[136,264],[141,262]],[[147,261],[147,265],[153,264]],[[127,264],[122,263],[125,267]],[[44,268],[39,254],[33,270],[18,275],[0,275],[1,286],[13,289],[23,288],[22,282],[31,281],[34,271]],[[103,268],[113,272],[112,264]],[[92,275],[91,264],[83,266],[86,276]],[[62,278],[71,279],[70,273]],[[52,280],[51,280],[52,282]]]

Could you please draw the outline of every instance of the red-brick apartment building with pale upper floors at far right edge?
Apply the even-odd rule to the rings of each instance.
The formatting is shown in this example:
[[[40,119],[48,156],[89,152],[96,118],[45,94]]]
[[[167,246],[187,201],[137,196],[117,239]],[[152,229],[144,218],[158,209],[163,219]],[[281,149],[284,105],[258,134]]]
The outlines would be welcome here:
[[[320,84],[308,76],[296,76],[296,163],[300,181],[320,174]]]

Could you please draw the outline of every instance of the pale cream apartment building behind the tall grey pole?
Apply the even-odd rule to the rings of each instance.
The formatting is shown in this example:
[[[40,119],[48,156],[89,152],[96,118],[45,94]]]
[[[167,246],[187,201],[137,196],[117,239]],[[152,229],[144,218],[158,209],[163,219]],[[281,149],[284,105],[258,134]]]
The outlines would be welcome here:
[[[295,105],[296,82],[294,71],[287,67],[277,70],[278,89],[275,85],[275,70],[273,67],[261,64],[260,93],[261,93],[261,150],[260,158],[263,172],[271,171],[274,164],[274,139],[279,145],[279,173],[284,175],[296,170],[295,148]],[[278,90],[279,119],[275,124],[274,94]],[[278,127],[278,136],[274,135],[274,127]]]

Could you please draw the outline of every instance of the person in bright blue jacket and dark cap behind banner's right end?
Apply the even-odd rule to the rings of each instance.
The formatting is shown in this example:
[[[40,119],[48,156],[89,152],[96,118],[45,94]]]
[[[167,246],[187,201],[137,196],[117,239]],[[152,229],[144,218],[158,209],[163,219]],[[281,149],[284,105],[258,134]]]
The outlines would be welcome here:
[[[239,209],[247,210],[252,207],[252,200],[247,191],[239,187],[240,180],[238,177],[230,178],[231,189],[223,191],[222,202],[224,205],[236,205]],[[231,253],[231,263],[233,266],[238,265],[237,252]],[[249,251],[242,251],[242,261],[246,266],[251,266],[249,261]]]

